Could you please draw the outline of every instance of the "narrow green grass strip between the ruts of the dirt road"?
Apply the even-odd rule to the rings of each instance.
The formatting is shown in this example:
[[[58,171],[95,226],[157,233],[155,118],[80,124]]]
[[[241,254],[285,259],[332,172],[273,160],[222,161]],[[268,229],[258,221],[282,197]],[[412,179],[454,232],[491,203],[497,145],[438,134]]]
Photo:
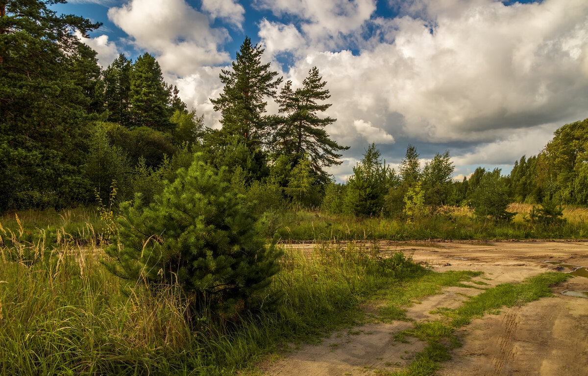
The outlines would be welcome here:
[[[519,306],[533,302],[542,297],[551,297],[550,286],[563,282],[569,275],[547,272],[522,283],[504,283],[489,288],[485,292],[466,300],[457,309],[438,309],[436,312],[443,319],[415,323],[412,329],[396,333],[398,341],[406,341],[406,337],[416,337],[427,342],[425,350],[416,355],[416,360],[405,370],[391,372],[390,376],[426,376],[433,375],[441,367],[443,361],[450,359],[449,349],[460,345],[459,338],[454,334],[459,327],[465,326],[475,317],[483,314],[499,313],[502,307]]]

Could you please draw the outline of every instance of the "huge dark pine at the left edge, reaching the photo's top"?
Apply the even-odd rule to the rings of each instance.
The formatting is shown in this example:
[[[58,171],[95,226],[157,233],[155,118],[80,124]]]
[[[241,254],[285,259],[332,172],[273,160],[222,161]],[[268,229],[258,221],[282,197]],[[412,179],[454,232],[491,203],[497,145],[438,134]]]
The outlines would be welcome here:
[[[48,8],[60,2],[0,2],[0,211],[88,198],[88,99],[69,67],[83,53],[72,31],[99,24]]]

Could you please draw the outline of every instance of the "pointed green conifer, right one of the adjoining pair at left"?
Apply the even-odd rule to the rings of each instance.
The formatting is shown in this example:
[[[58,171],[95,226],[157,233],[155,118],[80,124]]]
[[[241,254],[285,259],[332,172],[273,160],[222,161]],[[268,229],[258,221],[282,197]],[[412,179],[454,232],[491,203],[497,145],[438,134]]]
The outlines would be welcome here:
[[[133,64],[131,73],[131,116],[134,127],[149,127],[166,132],[173,128],[169,121],[170,92],[163,81],[155,57],[145,53]]]

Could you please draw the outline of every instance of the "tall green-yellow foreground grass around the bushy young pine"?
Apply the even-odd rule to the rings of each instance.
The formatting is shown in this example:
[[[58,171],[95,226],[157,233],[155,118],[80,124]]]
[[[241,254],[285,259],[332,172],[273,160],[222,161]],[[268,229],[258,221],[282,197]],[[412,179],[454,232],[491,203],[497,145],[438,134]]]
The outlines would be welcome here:
[[[46,245],[16,226],[0,233],[0,375],[230,375],[283,344],[351,326],[360,303],[422,270],[353,242],[286,247],[266,295],[280,303],[269,309],[259,296],[255,311],[222,321],[189,314],[172,287],[111,275],[95,239],[46,234],[56,239]]]

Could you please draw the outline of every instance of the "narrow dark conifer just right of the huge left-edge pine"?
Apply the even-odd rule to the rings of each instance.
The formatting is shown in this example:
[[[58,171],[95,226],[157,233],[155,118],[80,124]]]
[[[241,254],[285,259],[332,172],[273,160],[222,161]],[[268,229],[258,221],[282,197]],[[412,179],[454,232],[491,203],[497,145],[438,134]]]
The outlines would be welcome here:
[[[104,71],[105,102],[108,120],[131,128],[131,61],[121,53]]]

